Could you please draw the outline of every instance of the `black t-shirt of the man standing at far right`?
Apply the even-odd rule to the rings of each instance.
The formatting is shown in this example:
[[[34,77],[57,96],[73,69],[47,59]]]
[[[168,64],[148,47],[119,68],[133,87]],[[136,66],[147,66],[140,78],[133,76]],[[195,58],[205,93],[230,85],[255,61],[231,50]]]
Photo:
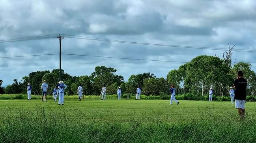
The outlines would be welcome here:
[[[235,99],[245,100],[247,80],[245,80],[244,78],[235,79],[234,85],[235,85]]]

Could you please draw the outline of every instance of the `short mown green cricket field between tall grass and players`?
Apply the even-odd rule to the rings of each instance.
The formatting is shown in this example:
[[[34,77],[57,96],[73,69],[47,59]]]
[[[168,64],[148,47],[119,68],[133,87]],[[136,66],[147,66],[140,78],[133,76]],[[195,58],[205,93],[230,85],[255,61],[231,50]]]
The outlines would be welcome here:
[[[246,103],[250,117],[256,115],[256,102]],[[187,122],[202,119],[227,117],[237,119],[237,109],[229,101],[179,101],[170,105],[169,100],[65,100],[65,105],[57,105],[53,100],[2,100],[0,115],[6,112],[31,116],[32,113],[68,115],[81,121],[133,121],[138,122]]]

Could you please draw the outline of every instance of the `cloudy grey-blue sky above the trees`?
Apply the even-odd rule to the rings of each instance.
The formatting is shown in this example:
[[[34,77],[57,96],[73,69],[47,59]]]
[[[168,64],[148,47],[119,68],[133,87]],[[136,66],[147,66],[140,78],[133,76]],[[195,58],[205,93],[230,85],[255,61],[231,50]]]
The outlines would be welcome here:
[[[232,64],[256,71],[255,0],[1,0],[0,80],[62,69],[90,75],[106,66],[128,81],[169,71],[235,45]],[[22,82],[22,81],[21,81]]]

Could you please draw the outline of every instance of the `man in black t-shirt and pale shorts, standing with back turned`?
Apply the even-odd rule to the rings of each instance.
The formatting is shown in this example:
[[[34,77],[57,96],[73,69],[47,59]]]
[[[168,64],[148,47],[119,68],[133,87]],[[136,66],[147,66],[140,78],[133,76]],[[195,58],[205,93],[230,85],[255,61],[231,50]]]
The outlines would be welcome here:
[[[235,88],[235,108],[238,109],[240,119],[244,119],[247,80],[243,78],[242,71],[238,71],[237,79],[235,79],[233,85]]]

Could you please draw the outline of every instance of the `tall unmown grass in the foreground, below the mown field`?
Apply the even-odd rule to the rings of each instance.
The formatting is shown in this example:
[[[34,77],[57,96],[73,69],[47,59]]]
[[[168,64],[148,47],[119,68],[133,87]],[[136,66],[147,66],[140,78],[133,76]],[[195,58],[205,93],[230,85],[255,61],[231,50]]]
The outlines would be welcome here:
[[[256,119],[247,115],[219,117],[176,123],[99,121],[80,110],[66,114],[62,108],[46,112],[44,107],[27,111],[9,108],[0,117],[1,143],[254,143]],[[157,116],[157,115],[156,115]],[[86,117],[86,121],[84,118]],[[198,117],[197,117],[198,118]],[[143,120],[143,119],[142,119]]]

